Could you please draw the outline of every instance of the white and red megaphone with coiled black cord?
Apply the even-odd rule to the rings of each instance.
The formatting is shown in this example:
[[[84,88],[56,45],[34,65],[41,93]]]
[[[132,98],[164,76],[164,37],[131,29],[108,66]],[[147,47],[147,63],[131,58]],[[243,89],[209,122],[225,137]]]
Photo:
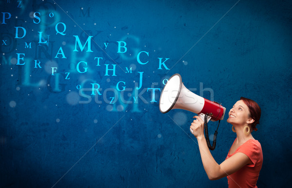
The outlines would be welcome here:
[[[172,75],[161,92],[159,100],[159,110],[162,113],[167,113],[171,109],[183,109],[187,111],[194,112],[201,116],[205,124],[209,120],[217,121],[223,120],[226,108],[221,106],[221,104],[209,101],[201,96],[188,90],[182,82],[182,77],[180,74]],[[191,130],[192,132],[192,130]],[[207,134],[207,135],[206,135]],[[207,138],[207,143],[209,141],[208,128],[205,126],[205,135]],[[215,149],[216,146],[217,131],[214,134],[213,147],[210,143],[208,147],[211,150]],[[214,146],[215,141],[215,146]]]

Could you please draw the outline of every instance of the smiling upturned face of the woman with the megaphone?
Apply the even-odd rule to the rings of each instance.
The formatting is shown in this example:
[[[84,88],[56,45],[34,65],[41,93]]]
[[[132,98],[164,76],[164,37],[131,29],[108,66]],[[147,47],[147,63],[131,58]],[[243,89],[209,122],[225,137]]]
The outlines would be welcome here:
[[[228,113],[229,118],[227,119],[227,122],[233,125],[250,123],[249,113],[248,106],[242,100],[237,101]]]

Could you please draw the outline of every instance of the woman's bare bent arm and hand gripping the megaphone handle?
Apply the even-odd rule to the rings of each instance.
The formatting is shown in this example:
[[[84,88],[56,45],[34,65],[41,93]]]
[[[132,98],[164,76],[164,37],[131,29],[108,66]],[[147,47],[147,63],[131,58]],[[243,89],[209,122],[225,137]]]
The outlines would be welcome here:
[[[199,116],[195,116],[194,118],[197,118],[197,120],[192,122],[190,128],[193,130],[193,135],[198,140],[202,163],[210,180],[217,180],[230,175],[251,163],[250,158],[246,154],[236,153],[219,165],[207,146],[204,137],[203,120]]]

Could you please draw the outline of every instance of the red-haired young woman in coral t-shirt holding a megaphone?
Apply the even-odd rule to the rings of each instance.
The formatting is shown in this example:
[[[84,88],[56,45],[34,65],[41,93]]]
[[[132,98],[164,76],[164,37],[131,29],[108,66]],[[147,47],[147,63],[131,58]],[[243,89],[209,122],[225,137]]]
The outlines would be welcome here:
[[[241,97],[229,111],[227,122],[231,123],[232,131],[236,132],[226,159],[219,165],[212,154],[204,137],[204,122],[195,116],[190,126],[197,138],[204,169],[210,180],[222,177],[228,179],[229,188],[257,188],[256,181],[263,163],[260,143],[252,136],[259,123],[261,110],[253,100]]]

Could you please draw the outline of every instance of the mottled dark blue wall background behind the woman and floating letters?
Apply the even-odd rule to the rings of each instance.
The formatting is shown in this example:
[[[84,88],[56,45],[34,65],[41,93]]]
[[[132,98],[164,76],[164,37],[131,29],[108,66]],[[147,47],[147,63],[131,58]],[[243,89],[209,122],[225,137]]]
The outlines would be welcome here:
[[[147,88],[162,90],[174,73],[227,111],[241,96],[255,100],[262,116],[253,136],[264,156],[257,186],[290,184],[291,1],[3,0],[0,7],[11,14],[6,24],[0,19],[1,44],[7,40],[0,46],[0,187],[227,187],[227,178],[210,181],[203,169],[189,132],[194,114],[162,114],[150,102]],[[40,12],[38,24],[34,12]],[[56,34],[58,22],[66,24],[66,35]],[[26,35],[15,38],[14,27]],[[43,41],[50,35],[48,44],[38,45],[37,32]],[[93,36],[93,52],[73,51],[73,35],[82,44]],[[127,43],[125,53],[117,53],[117,41]],[[55,58],[60,47],[67,58]],[[139,51],[149,53],[141,54],[147,64],[137,62]],[[25,65],[16,65],[17,53],[25,53]],[[101,66],[94,57],[103,57]],[[169,58],[169,70],[158,69],[158,58]],[[34,68],[34,60],[42,68]],[[86,73],[76,71],[80,61],[88,62]],[[105,76],[104,64],[116,65],[117,76],[112,70]],[[51,67],[57,67],[55,76]],[[139,72],[143,85],[135,93]],[[120,81],[131,103],[114,92]],[[101,86],[101,96],[91,95],[91,83]],[[119,100],[109,104],[110,97]],[[218,163],[236,137],[226,117],[212,151]],[[216,126],[209,123],[209,132]]]

